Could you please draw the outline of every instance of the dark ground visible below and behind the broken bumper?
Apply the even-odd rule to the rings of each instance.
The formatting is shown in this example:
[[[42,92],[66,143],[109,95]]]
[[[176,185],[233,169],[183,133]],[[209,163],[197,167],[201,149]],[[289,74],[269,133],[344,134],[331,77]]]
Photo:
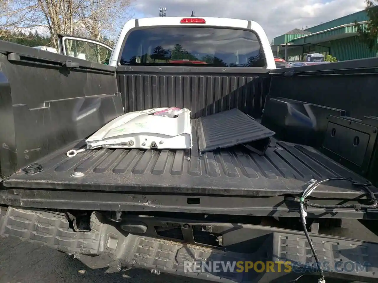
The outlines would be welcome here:
[[[356,220],[345,220],[331,234],[378,241],[378,237]],[[363,238],[362,238],[363,237]],[[206,283],[170,275],[154,275],[132,269],[125,273],[105,274],[102,269],[87,269],[78,260],[53,249],[0,238],[0,283]],[[329,280],[327,280],[327,283]]]

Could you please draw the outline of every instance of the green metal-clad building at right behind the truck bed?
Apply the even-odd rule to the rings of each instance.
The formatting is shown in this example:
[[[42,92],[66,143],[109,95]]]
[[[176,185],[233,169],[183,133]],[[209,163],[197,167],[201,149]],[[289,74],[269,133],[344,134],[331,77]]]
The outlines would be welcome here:
[[[274,56],[287,62],[303,61],[308,53],[330,54],[338,61],[376,57],[377,52],[357,40],[355,21],[367,20],[363,10],[305,30],[293,29],[275,37],[271,48]]]

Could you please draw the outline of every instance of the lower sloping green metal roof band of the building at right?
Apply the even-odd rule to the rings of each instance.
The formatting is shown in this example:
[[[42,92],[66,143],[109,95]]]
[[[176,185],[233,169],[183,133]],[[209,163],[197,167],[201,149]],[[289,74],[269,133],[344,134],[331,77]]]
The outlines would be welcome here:
[[[366,22],[360,22],[362,25],[366,25]],[[327,29],[325,31],[315,32],[313,34],[304,35],[294,38],[290,41],[293,44],[316,44],[345,37],[351,37],[357,35],[357,28],[355,23],[349,23],[347,25],[337,26],[335,28]]]

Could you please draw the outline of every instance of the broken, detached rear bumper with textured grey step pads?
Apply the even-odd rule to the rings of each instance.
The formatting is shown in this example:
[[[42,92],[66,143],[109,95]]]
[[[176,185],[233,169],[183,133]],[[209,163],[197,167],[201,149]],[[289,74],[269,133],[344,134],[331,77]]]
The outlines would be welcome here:
[[[74,232],[62,213],[9,207],[0,215],[0,235],[73,254],[89,268],[108,268],[107,272],[144,268],[155,274],[165,272],[214,282],[262,283],[286,282],[315,270],[310,267],[311,251],[304,234],[293,230],[139,217],[130,221],[143,220],[147,231],[131,234],[118,229],[118,223],[103,223],[101,214],[94,212],[91,231],[84,233]],[[172,223],[179,224],[188,243],[154,237],[155,226]],[[198,245],[194,226],[222,234],[218,237],[220,247]],[[311,238],[326,277],[376,282],[378,244],[319,234],[311,234]],[[228,261],[229,267],[222,270]],[[202,266],[195,266],[195,262]],[[247,266],[248,272],[240,272]]]

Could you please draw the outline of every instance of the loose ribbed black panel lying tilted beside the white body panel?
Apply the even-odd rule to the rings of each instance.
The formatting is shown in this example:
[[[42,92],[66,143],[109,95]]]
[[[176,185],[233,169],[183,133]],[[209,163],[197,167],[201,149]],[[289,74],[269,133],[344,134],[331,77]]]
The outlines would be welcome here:
[[[198,119],[200,154],[262,140],[274,134],[236,108]]]

